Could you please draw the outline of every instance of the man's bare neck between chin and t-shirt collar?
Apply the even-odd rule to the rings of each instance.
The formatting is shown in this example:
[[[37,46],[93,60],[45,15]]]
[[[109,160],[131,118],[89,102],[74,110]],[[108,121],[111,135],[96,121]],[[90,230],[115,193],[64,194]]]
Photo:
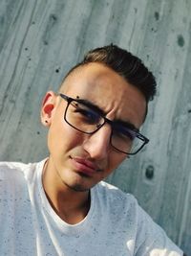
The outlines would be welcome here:
[[[48,160],[43,169],[43,188],[54,212],[70,224],[82,221],[90,209],[90,191],[77,192],[65,185]]]

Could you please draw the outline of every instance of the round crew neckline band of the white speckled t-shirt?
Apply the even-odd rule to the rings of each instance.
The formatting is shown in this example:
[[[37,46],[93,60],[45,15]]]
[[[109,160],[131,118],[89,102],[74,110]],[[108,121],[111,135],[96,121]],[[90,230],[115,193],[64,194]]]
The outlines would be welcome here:
[[[66,221],[63,221],[53,210],[48,198],[46,197],[43,184],[42,184],[42,174],[43,174],[43,167],[47,161],[47,158],[43,161],[37,163],[36,170],[37,170],[37,187],[39,192],[39,203],[41,203],[43,213],[52,221],[53,225],[56,225],[61,232],[68,233],[71,235],[81,233],[82,231],[88,231],[91,227],[91,220],[93,218],[95,210],[95,190],[96,187],[91,189],[90,198],[91,198],[91,206],[87,216],[76,224],[69,224]]]

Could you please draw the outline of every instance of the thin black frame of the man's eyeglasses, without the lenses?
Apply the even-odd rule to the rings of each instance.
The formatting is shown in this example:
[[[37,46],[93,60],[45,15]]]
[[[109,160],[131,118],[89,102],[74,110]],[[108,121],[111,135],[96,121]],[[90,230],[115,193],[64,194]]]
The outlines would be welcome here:
[[[137,154],[138,151],[141,151],[142,148],[143,148],[146,144],[149,143],[149,139],[146,138],[144,135],[142,135],[142,134],[138,131],[138,128],[129,128],[130,130],[132,130],[132,131],[135,133],[135,136],[136,136],[138,139],[140,139],[141,141],[143,141],[143,144],[142,144],[141,147],[138,149],[138,151],[135,151],[135,152],[133,152],[133,153],[118,150],[118,149],[117,149],[115,146],[113,146],[113,144],[112,144],[113,127],[115,127],[114,122],[111,121],[111,120],[109,120],[108,118],[106,118],[106,117],[105,117],[103,114],[101,114],[101,113],[98,113],[98,114],[100,115],[100,117],[102,117],[102,118],[104,119],[104,122],[103,122],[103,124],[101,124],[100,126],[98,126],[98,127],[96,128],[96,130],[91,131],[91,132],[88,132],[88,131],[83,131],[83,130],[81,130],[81,129],[79,129],[79,128],[75,128],[71,123],[68,122],[68,120],[67,120],[67,118],[66,118],[66,113],[67,113],[67,110],[68,110],[69,105],[70,105],[72,102],[76,102],[76,103],[79,103],[79,104],[82,104],[82,105],[85,105],[85,106],[88,106],[88,107],[91,107],[91,106],[88,105],[88,104],[86,104],[86,103],[84,103],[84,102],[83,102],[82,100],[80,100],[80,99],[74,99],[74,98],[71,98],[71,97],[69,97],[69,96],[67,96],[67,95],[65,95],[65,94],[62,94],[62,93],[59,93],[59,96],[60,96],[62,99],[64,99],[65,101],[67,101],[67,103],[68,103],[68,105],[66,106],[66,109],[65,109],[65,113],[64,113],[64,120],[65,120],[66,123],[69,124],[72,128],[74,128],[74,129],[76,129],[76,130],[78,130],[78,131],[80,131],[80,132],[86,133],[86,134],[94,134],[99,128],[102,128],[102,127],[105,125],[105,123],[107,123],[107,124],[109,124],[109,125],[112,127],[112,132],[111,132],[111,136],[110,136],[110,144],[111,144],[111,146],[112,146],[115,150],[117,150],[117,151],[119,151],[119,152],[123,152],[123,153],[125,153],[125,154],[127,154],[127,155],[134,155],[134,154]]]

